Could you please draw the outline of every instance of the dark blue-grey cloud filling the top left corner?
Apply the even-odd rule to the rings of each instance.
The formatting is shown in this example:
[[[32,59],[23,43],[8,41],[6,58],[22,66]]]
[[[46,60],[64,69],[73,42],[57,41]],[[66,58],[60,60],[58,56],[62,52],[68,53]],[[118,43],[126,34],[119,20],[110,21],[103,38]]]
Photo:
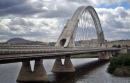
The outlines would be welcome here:
[[[1,0],[0,8],[0,16],[31,16],[45,11],[45,9],[39,9],[37,4],[28,0]]]

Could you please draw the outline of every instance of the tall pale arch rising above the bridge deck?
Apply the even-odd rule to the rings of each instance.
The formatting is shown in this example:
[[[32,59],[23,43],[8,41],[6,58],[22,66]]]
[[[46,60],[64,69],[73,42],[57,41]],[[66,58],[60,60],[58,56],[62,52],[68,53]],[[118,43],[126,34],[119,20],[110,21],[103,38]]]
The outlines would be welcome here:
[[[80,20],[79,17],[85,11],[88,11],[93,19],[99,45],[104,43],[104,41],[105,41],[104,33],[103,33],[101,23],[100,23],[99,17],[97,15],[95,9],[92,6],[81,6],[76,10],[76,12],[73,14],[72,18],[67,21],[55,46],[75,47],[74,40],[76,37],[78,22]]]

